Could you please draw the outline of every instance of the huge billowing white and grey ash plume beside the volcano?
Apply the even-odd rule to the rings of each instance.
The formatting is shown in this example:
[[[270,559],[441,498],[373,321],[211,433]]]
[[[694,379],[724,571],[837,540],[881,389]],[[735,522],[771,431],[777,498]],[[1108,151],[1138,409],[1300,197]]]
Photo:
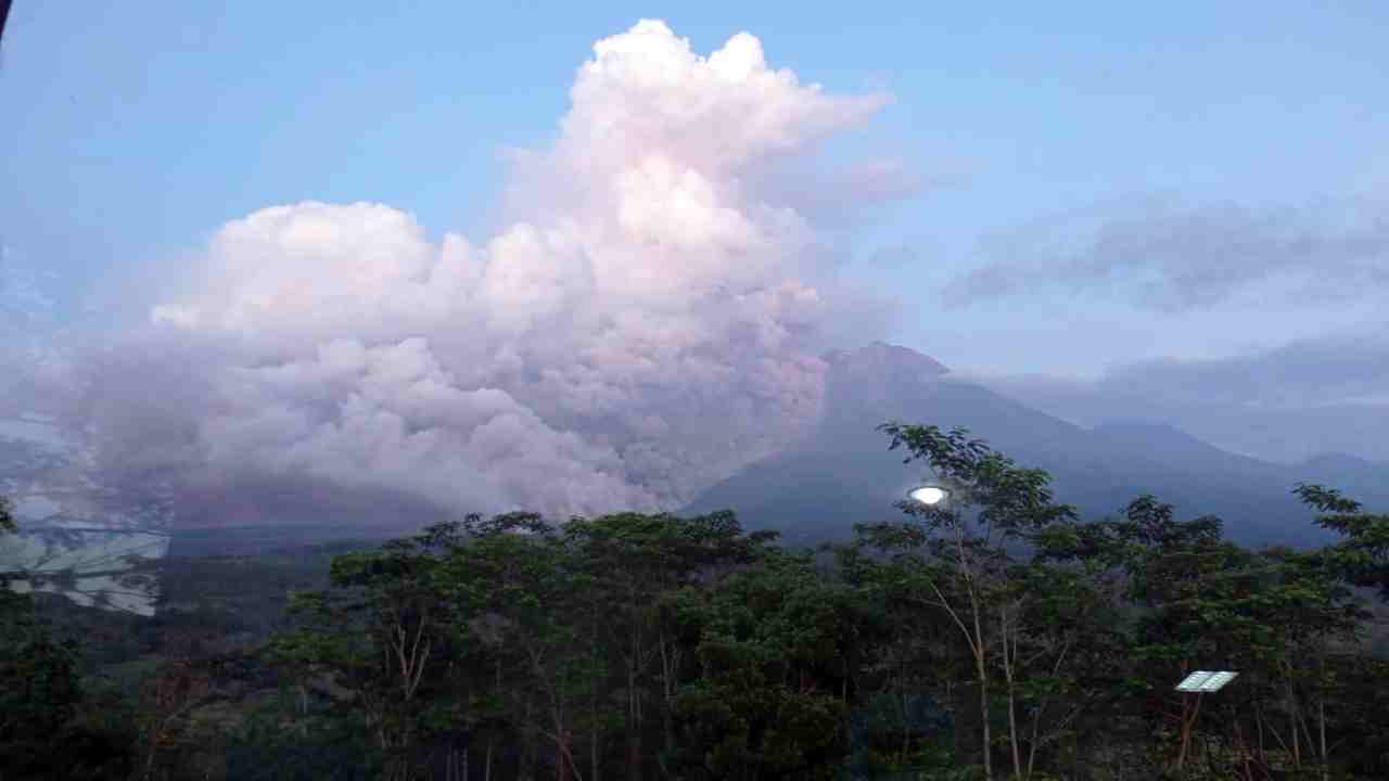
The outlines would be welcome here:
[[[818,418],[831,322],[882,303],[835,292],[813,225],[746,182],[885,99],[656,21],[597,42],[571,96],[490,240],[371,203],[229,222],[68,416],[111,468],[454,511],[676,509],[785,446]]]

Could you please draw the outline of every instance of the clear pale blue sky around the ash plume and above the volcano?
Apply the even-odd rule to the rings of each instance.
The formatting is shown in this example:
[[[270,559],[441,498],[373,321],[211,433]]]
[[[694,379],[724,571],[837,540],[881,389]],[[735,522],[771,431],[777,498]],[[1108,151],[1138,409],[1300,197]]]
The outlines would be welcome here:
[[[0,236],[99,299],[174,272],[229,220],[306,199],[381,202],[431,235],[483,240],[499,149],[550,142],[593,42],[639,18],[697,53],[747,31],[803,82],[892,93],[831,156],[886,150],[939,183],[826,235],[856,258],[847,277],[921,292],[886,336],[957,370],[1095,375],[1381,322],[1374,299],[1157,311],[1090,288],[956,306],[940,293],[990,263],[988,236],[1132,220],[1154,193],[1197,210],[1378,203],[1389,7],[1375,1],[93,0],[75,14],[17,0],[0,51]]]

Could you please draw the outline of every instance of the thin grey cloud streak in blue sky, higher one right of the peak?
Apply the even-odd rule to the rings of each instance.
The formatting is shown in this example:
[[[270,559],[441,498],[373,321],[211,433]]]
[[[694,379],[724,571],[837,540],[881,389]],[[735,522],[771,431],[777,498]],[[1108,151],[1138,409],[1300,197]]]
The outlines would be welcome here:
[[[1070,292],[1168,314],[1301,309],[1389,295],[1389,203],[1296,207],[1135,197],[992,236],[940,292],[947,306]]]

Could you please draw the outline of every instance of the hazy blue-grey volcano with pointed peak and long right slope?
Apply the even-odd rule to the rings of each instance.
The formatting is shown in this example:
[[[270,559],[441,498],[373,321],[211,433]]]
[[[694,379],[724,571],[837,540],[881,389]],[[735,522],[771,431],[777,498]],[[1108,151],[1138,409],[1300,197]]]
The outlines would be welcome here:
[[[854,523],[900,518],[893,503],[929,472],[888,450],[888,438],[875,431],[888,420],[965,427],[1020,464],[1047,470],[1057,498],[1089,518],[1117,514],[1135,496],[1153,493],[1172,503],[1179,518],[1220,516],[1226,535],[1246,545],[1317,545],[1331,535],[1313,525],[1313,513],[1290,493],[1296,482],[1324,482],[1367,504],[1389,504],[1383,464],[1335,454],[1272,464],[1145,421],[1086,429],[951,379],[933,359],[881,342],[826,360],[820,427],[795,447],[714,485],[688,511],[731,507],[747,525],[778,528],[789,539],[846,536]]]

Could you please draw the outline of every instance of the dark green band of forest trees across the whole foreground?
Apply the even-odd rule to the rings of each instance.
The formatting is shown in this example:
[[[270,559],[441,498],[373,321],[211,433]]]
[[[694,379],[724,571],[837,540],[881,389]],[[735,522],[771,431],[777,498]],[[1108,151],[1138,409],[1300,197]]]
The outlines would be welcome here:
[[[879,436],[949,502],[814,549],[513,513],[168,560],[153,618],[3,591],[0,780],[1389,777],[1389,516],[1299,485],[1335,542],[1250,550],[1147,495],[1081,517],[964,429]]]

